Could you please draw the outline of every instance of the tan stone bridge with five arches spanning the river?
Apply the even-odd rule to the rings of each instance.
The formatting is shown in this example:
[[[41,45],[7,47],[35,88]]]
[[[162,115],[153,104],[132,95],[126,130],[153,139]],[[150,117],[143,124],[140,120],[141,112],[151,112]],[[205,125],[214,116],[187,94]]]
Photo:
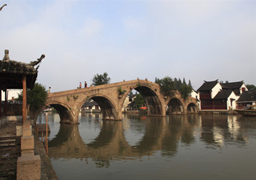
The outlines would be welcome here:
[[[122,106],[126,96],[133,89],[138,91],[146,101],[147,115],[166,116],[166,110],[177,114],[197,112],[197,102],[194,98],[190,97],[184,101],[179,93],[174,97],[163,96],[158,84],[139,79],[49,93],[46,106],[57,110],[62,123],[78,123],[82,104],[92,99],[100,106],[102,119],[121,120]]]

